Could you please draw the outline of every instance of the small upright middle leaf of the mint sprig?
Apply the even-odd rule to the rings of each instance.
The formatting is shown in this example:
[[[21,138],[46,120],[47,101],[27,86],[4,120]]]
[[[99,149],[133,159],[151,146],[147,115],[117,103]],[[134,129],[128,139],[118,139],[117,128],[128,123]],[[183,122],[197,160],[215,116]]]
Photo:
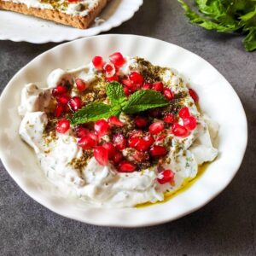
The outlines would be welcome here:
[[[107,95],[112,104],[119,104],[126,99],[123,86],[118,82],[111,82],[108,84]]]

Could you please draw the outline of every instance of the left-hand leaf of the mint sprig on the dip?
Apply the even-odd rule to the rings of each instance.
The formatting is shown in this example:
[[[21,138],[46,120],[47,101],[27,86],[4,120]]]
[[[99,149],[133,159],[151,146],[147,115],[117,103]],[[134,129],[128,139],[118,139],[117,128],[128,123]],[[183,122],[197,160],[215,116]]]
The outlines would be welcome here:
[[[119,109],[112,108],[110,105],[102,102],[92,102],[74,113],[71,123],[72,125],[79,125],[94,122],[98,119],[107,119],[108,117],[118,113]]]

